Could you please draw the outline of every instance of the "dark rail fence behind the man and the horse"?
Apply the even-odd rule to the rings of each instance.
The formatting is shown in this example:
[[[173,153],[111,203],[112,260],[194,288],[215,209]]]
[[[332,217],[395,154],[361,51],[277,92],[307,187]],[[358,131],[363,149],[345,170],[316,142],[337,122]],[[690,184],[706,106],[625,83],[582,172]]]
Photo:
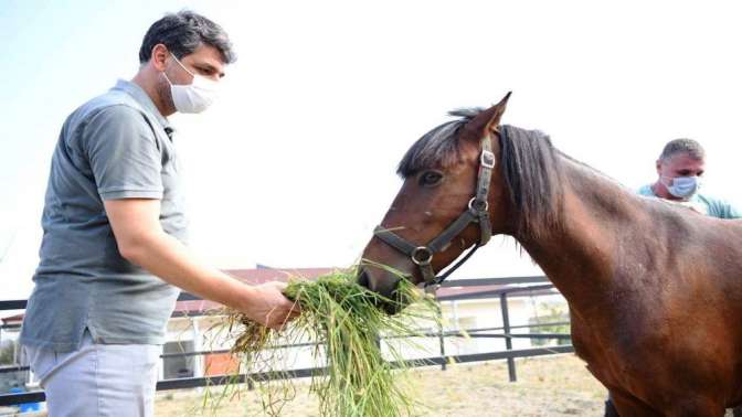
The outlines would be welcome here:
[[[452,281],[445,281],[442,287],[481,287],[481,286],[492,286],[492,285],[523,285],[523,284],[540,284],[548,282],[548,279],[543,276],[536,277],[510,277],[510,278],[476,278],[476,279],[458,279]],[[559,353],[571,353],[574,352],[572,345],[556,345],[556,346],[543,346],[543,348],[531,348],[531,349],[512,349],[512,339],[555,339],[555,340],[569,340],[570,335],[565,333],[512,333],[513,329],[538,329],[544,327],[556,327],[556,325],[566,325],[569,321],[556,321],[548,323],[533,323],[533,324],[521,324],[521,325],[510,325],[509,322],[509,310],[508,310],[508,296],[516,293],[528,293],[528,292],[538,292],[553,289],[553,285],[543,284],[543,285],[531,285],[527,287],[505,287],[496,290],[479,291],[476,293],[463,293],[463,295],[451,295],[438,297],[439,301],[458,301],[458,300],[479,300],[479,299],[494,299],[497,298],[500,301],[501,314],[502,314],[502,327],[495,328],[478,328],[478,329],[467,329],[462,330],[449,330],[444,331],[438,329],[435,331],[426,331],[423,334],[411,334],[411,336],[426,336],[426,338],[438,338],[441,340],[441,354],[437,356],[431,356],[425,359],[410,360],[405,363],[410,366],[441,366],[442,370],[445,370],[446,364],[448,363],[470,363],[470,362],[483,362],[483,361],[496,361],[496,360],[506,360],[508,362],[508,374],[510,381],[516,381],[516,365],[515,359],[517,357],[530,357],[530,356],[541,356]],[[556,292],[553,292],[556,293]],[[188,300],[200,300],[199,297],[195,297],[190,293],[181,293],[178,298],[179,301]],[[9,300],[0,301],[0,311],[2,310],[22,310],[25,308],[26,300]],[[494,333],[495,331],[500,331]],[[400,338],[400,336],[396,336]],[[486,352],[486,353],[475,353],[475,354],[464,354],[464,355],[448,355],[445,352],[445,338],[471,338],[471,339],[505,339],[506,350],[497,352]],[[391,339],[391,338],[384,338]],[[299,348],[299,346],[309,346],[317,345],[319,342],[311,343],[300,343],[292,344],[284,346],[276,346],[276,349],[286,349],[286,348]],[[212,350],[212,351],[193,351],[193,352],[181,352],[181,353],[163,353],[160,357],[177,357],[177,356],[197,356],[197,355],[206,355],[215,353],[229,353],[229,350]],[[11,372],[24,372],[29,371],[29,366],[4,366],[0,367],[0,375]],[[287,371],[272,371],[264,373],[254,373],[254,374],[240,374],[240,375],[215,375],[215,376],[203,376],[203,377],[183,377],[177,379],[162,379],[157,383],[157,391],[168,391],[168,389],[182,389],[182,388],[195,388],[204,387],[212,385],[222,385],[225,383],[234,382],[247,382],[247,381],[269,381],[277,378],[295,378],[295,377],[308,377],[315,375],[321,375],[325,372],[324,367],[311,367],[311,368],[298,368],[298,370],[287,370]],[[0,406],[18,405],[23,403],[36,403],[43,402],[45,399],[44,393],[41,391],[29,392],[29,393],[18,393],[18,394],[0,394]]]

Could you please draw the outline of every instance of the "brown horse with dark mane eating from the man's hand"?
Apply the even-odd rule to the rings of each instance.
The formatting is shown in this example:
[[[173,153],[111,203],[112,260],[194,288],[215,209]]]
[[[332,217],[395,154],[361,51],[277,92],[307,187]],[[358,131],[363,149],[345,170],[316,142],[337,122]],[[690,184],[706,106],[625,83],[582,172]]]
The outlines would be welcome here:
[[[722,416],[742,403],[742,222],[637,196],[543,133],[500,126],[508,97],[453,113],[460,119],[417,140],[363,257],[422,282],[422,266],[439,271],[486,242],[486,222],[471,221],[425,247],[480,194],[486,143],[496,163],[480,206],[491,233],[513,236],[566,298],[575,351],[619,414]],[[386,297],[398,280],[373,266],[359,276]]]

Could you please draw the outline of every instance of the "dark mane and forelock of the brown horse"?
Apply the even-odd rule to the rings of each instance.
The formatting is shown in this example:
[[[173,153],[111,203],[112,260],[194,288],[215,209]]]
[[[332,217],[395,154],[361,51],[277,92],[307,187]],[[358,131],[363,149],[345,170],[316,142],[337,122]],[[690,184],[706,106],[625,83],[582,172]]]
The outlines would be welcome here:
[[[458,119],[425,133],[407,150],[398,173],[409,178],[432,168],[460,162],[460,129],[483,109],[451,111]],[[500,126],[500,164],[517,215],[517,233],[539,237],[561,227],[563,169],[559,152],[547,135],[515,126]]]

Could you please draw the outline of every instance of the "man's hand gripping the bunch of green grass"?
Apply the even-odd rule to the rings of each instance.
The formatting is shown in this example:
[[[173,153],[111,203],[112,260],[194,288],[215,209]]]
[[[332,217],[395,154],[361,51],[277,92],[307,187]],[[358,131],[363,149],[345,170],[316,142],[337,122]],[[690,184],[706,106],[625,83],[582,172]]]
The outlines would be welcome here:
[[[265,282],[251,289],[251,296],[240,310],[267,328],[278,330],[301,313],[298,303],[284,296],[284,282]]]

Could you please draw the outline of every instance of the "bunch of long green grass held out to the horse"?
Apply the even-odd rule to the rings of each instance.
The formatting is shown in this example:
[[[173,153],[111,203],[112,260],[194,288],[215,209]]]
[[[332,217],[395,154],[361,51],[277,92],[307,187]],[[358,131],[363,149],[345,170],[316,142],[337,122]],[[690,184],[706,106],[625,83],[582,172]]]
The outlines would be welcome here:
[[[394,300],[354,282],[351,271],[338,271],[316,280],[293,280],[285,290],[301,307],[301,316],[282,331],[259,325],[241,313],[229,318],[236,331],[232,353],[251,370],[269,370],[280,362],[277,348],[317,342],[315,360],[325,360],[326,372],[314,376],[310,392],[319,397],[322,416],[402,416],[411,415],[415,402],[404,388],[402,348],[412,344],[409,336],[421,335],[420,320],[436,320],[434,302],[403,280]],[[379,303],[399,303],[402,310],[389,316]],[[407,304],[411,307],[405,308]],[[398,343],[384,343],[390,338]],[[385,353],[385,354],[384,354]],[[386,356],[386,357],[384,357]],[[402,372],[400,372],[402,371]],[[254,382],[261,388],[263,409],[278,415],[295,394],[290,379],[278,384]]]

